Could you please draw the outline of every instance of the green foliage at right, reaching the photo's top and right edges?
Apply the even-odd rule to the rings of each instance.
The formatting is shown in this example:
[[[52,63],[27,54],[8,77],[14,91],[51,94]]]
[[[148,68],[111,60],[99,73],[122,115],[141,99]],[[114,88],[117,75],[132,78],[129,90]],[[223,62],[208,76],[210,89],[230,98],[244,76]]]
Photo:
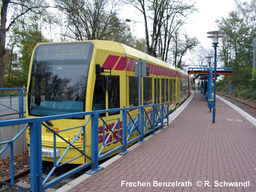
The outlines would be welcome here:
[[[256,1],[240,3],[237,9],[226,18],[217,20],[218,27],[223,30],[224,37],[220,46],[220,58],[224,67],[232,67],[233,73],[225,76],[224,81],[233,86],[250,89],[252,78],[252,43],[256,36],[255,6]]]

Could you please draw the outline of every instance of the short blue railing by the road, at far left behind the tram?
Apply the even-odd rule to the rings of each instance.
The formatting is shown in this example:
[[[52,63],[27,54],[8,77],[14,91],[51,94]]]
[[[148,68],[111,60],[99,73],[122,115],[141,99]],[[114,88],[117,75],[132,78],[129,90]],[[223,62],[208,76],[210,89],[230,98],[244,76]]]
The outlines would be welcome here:
[[[10,109],[11,112],[7,113],[7,114],[0,114],[0,117],[4,117],[4,116],[10,116],[10,115],[17,115],[19,116],[19,118],[24,118],[24,97],[23,97],[23,93],[25,90],[27,90],[27,88],[0,88],[1,90],[14,90],[12,93],[10,93],[10,95],[0,99],[0,105],[4,106],[6,109]],[[15,109],[12,106],[12,95],[14,93],[18,92],[18,109]],[[8,105],[3,104],[3,101],[9,100],[10,102],[8,103]]]

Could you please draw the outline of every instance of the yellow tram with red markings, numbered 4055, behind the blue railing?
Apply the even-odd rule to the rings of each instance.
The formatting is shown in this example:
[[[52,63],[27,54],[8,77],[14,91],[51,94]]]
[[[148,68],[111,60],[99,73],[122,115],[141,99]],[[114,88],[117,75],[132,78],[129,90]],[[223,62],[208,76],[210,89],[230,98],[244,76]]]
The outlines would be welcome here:
[[[26,116],[50,116],[138,105],[135,61],[139,59],[146,60],[146,77],[141,80],[142,105],[169,102],[169,111],[174,111],[189,95],[187,73],[118,42],[90,40],[36,45],[29,70]],[[118,116],[119,113],[102,115],[104,120]],[[84,122],[84,117],[77,117],[54,120],[48,125],[54,131],[61,131]],[[103,130],[102,127],[99,124],[99,146],[102,146],[103,132],[105,136],[110,134],[108,129]],[[86,129],[86,136],[79,136],[79,140],[74,143],[82,149],[83,139],[86,139],[86,154],[91,154],[90,131]],[[76,134],[68,131],[62,132],[61,136],[72,141]],[[110,137],[110,142],[112,138],[114,140],[114,136]],[[66,150],[67,143],[59,138],[56,143],[59,157]],[[117,144],[110,144],[105,151],[112,150]],[[42,159],[53,161],[52,152],[53,133],[42,126]],[[78,155],[79,152],[71,148],[63,161]],[[85,161],[85,158],[79,158],[71,163],[82,164]]]

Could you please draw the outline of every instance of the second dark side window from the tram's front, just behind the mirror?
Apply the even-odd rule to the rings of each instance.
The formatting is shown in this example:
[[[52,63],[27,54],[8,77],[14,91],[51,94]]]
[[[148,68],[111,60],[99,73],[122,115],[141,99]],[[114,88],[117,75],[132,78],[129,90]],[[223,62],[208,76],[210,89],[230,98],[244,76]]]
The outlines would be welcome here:
[[[111,89],[109,90],[109,109],[120,108],[120,82],[119,76],[111,76]],[[120,112],[109,113],[109,115]]]

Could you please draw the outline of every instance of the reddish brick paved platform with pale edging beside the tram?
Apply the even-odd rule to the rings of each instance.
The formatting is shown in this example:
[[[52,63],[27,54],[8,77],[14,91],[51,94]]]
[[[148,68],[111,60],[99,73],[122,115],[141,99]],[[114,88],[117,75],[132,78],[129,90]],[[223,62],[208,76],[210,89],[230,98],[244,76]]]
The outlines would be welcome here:
[[[255,119],[217,98],[212,123],[203,95],[192,95],[164,130],[58,191],[256,191]]]

